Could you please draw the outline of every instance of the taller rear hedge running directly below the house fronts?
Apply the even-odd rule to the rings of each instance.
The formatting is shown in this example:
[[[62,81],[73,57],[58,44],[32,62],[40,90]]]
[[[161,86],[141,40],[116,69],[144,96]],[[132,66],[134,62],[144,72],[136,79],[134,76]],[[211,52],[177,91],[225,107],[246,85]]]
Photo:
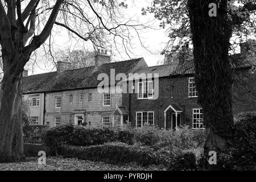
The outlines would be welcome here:
[[[49,129],[44,137],[49,146],[58,146],[63,143],[72,146],[93,146],[108,142],[122,142],[130,145],[137,143],[141,146],[176,146],[187,149],[202,146],[205,134],[203,130],[195,132],[187,126],[171,133],[151,126],[133,129],[109,126],[82,127],[67,124]]]

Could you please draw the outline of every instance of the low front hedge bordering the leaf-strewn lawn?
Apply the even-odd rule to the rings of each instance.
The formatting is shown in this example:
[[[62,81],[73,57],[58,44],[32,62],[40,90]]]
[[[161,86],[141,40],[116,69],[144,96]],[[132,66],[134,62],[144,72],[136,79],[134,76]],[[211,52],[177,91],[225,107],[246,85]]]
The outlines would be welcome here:
[[[154,151],[150,147],[130,146],[125,143],[105,143],[89,147],[59,146],[57,150],[58,154],[64,158],[95,160],[110,164],[135,162],[141,166],[164,164],[164,166],[175,170],[196,169],[194,154],[170,148]]]

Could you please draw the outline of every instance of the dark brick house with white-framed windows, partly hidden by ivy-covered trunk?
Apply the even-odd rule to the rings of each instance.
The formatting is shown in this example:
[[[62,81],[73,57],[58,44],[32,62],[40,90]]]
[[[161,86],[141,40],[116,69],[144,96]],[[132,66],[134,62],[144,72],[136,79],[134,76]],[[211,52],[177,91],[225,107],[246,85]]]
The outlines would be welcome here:
[[[256,43],[254,48],[256,52]],[[233,83],[233,114],[256,111],[256,74],[252,65],[256,65],[254,53],[248,53],[246,43],[241,46],[241,53],[233,55],[236,59]],[[166,65],[138,69],[135,73],[158,73],[159,94],[152,99],[148,93],[153,81],[139,79],[138,92],[123,94],[123,103],[129,110],[131,125],[143,127],[143,123],[157,125],[160,129],[174,129],[188,125],[193,129],[203,129],[203,110],[197,104],[198,93],[193,77],[192,61],[178,60]],[[153,84],[150,84],[153,82]],[[146,90],[143,92],[143,90]],[[143,97],[142,97],[143,95]]]

